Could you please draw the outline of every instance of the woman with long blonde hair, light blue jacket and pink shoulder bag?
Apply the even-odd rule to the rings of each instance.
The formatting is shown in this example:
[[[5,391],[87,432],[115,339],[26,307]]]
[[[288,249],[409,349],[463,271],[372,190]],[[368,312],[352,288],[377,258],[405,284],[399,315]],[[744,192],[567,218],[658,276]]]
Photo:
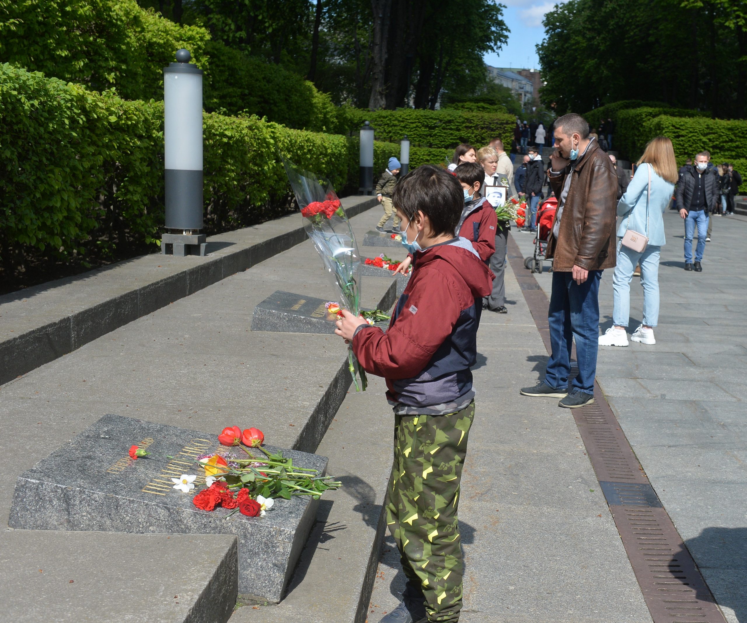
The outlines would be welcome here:
[[[636,174],[617,204],[617,215],[622,216],[622,222],[617,231],[621,240],[613,276],[614,324],[599,337],[600,346],[627,346],[630,279],[638,263],[643,286],[643,322],[633,331],[630,339],[642,344],[656,343],[654,327],[659,320],[659,252],[666,244],[663,215],[678,179],[672,141],[666,136],[652,139],[637,164]],[[630,234],[627,237],[626,232]],[[641,245],[641,236],[645,236],[648,242]]]

